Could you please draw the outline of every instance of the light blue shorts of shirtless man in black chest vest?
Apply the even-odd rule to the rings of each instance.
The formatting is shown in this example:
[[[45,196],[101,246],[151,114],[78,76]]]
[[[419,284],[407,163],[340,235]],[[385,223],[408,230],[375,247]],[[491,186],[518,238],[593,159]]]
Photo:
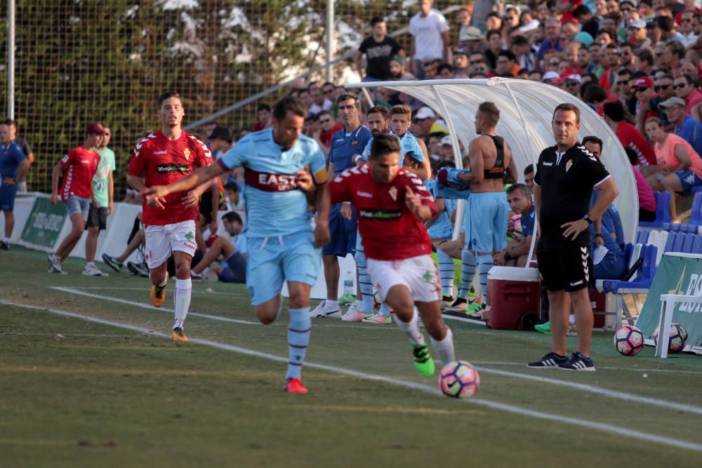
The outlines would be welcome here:
[[[465,203],[465,248],[480,253],[507,246],[510,205],[505,192],[473,192]]]

